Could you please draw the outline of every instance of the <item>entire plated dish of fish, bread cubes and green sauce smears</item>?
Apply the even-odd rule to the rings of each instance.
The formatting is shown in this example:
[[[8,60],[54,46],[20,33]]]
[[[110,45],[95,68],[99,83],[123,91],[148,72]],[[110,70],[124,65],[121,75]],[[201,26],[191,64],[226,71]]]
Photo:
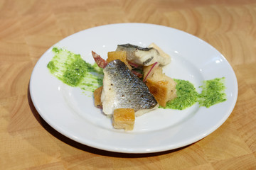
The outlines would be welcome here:
[[[53,52],[50,73],[69,86],[92,91],[95,107],[112,118],[116,129],[133,130],[136,117],[155,109],[183,110],[197,102],[210,107],[226,100],[224,77],[203,81],[201,94],[189,81],[168,77],[164,67],[171,57],[154,43],[117,45],[106,60],[92,51],[95,64],[62,48],[53,47]]]

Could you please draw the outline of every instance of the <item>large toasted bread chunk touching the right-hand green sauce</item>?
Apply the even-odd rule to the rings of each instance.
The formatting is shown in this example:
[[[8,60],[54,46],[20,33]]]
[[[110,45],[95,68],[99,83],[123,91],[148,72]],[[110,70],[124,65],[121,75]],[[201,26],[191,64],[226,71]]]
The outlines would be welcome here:
[[[176,82],[174,79],[167,77],[162,72],[161,67],[158,67],[154,74],[146,79],[146,86],[149,91],[156,98],[160,106],[166,107],[166,103],[176,98]]]

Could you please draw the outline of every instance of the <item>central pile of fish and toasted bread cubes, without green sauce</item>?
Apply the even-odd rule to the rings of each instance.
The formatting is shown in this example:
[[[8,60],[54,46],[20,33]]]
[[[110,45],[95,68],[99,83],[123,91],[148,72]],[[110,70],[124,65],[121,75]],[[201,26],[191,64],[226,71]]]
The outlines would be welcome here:
[[[106,115],[114,114],[114,128],[132,130],[134,115],[166,106],[176,97],[176,82],[161,68],[171,57],[154,43],[150,47],[117,45],[116,51],[108,52],[107,60],[93,51],[92,56],[104,72],[103,86],[94,93],[95,106]]]

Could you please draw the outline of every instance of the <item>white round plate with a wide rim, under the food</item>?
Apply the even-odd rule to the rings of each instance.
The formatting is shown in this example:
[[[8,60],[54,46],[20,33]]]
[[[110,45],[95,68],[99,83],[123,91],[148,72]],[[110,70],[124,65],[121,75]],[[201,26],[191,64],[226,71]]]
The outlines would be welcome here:
[[[134,130],[112,128],[93,95],[63,84],[50,74],[46,65],[53,58],[53,47],[63,47],[94,63],[91,51],[102,57],[119,44],[146,47],[156,43],[171,55],[164,72],[175,79],[194,84],[198,92],[203,80],[225,77],[228,100],[210,108],[195,104],[183,111],[158,108],[136,118]],[[60,40],[38,60],[30,81],[36,110],[55,130],[90,147],[122,153],[161,152],[190,145],[216,130],[233,111],[238,82],[225,57],[207,42],[181,30],[146,23],[119,23],[82,30]]]

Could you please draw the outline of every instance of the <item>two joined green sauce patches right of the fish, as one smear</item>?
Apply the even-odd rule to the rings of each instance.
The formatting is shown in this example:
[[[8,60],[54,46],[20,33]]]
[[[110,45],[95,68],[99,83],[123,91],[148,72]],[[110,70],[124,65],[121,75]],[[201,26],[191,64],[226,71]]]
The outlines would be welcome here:
[[[209,108],[217,103],[226,101],[227,98],[225,94],[224,80],[225,77],[203,81],[203,85],[199,86],[202,88],[202,92],[201,94],[198,94],[196,88],[191,84],[191,82],[174,79],[177,83],[177,98],[167,102],[165,108],[183,110],[193,106],[193,104],[197,102],[200,106]]]

